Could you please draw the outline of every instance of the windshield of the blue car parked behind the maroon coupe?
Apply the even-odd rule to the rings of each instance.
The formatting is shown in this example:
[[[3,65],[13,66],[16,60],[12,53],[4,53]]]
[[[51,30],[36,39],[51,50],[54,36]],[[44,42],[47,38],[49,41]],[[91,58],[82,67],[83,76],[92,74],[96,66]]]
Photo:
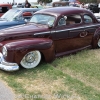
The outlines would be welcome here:
[[[11,10],[7,11],[4,15],[2,15],[1,18],[7,19],[8,21],[12,21],[19,15],[20,12],[21,11],[18,9],[11,9]]]

